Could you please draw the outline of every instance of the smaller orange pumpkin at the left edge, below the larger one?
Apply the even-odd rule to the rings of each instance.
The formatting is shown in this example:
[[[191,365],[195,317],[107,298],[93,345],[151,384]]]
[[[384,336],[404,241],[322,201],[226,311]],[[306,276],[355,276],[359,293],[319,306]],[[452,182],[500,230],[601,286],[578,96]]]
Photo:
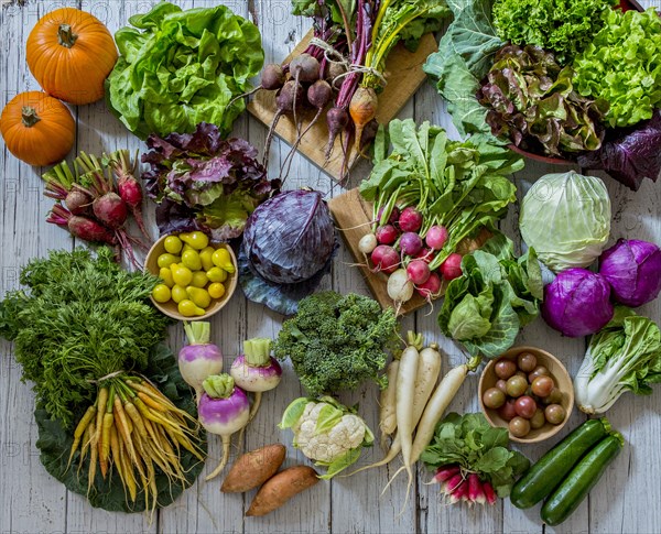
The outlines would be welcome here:
[[[57,163],[74,148],[76,123],[67,107],[42,91],[17,95],[2,110],[0,133],[9,151],[30,165]]]

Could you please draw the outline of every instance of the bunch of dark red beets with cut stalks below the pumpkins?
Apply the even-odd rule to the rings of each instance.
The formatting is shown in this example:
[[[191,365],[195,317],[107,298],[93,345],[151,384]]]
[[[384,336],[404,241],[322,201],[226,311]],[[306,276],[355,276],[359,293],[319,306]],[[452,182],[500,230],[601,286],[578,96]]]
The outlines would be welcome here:
[[[66,228],[84,241],[123,250],[129,261],[140,269],[133,244],[147,247],[126,230],[132,215],[149,239],[142,220],[142,188],[136,179],[137,161],[131,164],[127,150],[104,154],[101,161],[80,152],[74,166],[75,174],[62,162],[42,176],[46,182],[44,195],[58,200],[46,221]]]

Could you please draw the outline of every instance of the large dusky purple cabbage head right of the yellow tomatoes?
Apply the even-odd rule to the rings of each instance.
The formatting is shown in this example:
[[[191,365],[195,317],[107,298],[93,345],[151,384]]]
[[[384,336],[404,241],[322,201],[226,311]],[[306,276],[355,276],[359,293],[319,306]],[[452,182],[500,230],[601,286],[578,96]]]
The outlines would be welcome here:
[[[289,190],[261,204],[248,219],[243,253],[269,282],[294,284],[321,271],[335,251],[335,227],[322,194]]]

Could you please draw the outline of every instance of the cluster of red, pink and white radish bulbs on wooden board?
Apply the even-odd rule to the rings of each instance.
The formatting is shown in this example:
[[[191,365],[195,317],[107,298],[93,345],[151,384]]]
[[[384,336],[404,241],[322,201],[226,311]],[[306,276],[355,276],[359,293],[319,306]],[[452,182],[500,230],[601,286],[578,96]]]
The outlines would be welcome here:
[[[387,221],[358,243],[372,271],[389,275],[388,295],[398,304],[411,299],[414,292],[431,302],[438,296],[443,280],[462,275],[460,254],[452,253],[440,264],[435,261],[448,239],[447,229],[435,225],[424,231],[423,222],[414,207],[401,211],[395,207]]]

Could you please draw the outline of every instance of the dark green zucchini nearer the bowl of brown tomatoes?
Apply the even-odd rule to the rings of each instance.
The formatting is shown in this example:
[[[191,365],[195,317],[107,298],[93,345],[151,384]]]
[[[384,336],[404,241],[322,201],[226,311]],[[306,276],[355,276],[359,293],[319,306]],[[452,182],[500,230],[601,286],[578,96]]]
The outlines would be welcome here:
[[[549,497],[585,453],[609,433],[610,424],[606,417],[583,423],[519,479],[510,494],[512,504],[525,509]]]

